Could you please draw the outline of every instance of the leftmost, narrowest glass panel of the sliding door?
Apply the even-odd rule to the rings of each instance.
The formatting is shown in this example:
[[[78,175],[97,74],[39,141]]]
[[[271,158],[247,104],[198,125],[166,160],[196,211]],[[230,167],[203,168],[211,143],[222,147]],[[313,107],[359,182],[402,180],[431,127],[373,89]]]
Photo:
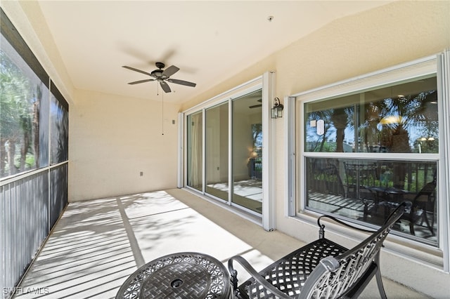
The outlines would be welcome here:
[[[196,112],[187,117],[187,185],[203,191],[203,114]]]

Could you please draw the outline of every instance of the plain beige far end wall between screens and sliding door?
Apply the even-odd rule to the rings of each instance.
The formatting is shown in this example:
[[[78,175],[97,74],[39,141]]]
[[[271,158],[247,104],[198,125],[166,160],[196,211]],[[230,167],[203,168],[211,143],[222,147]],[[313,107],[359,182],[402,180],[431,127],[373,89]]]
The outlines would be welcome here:
[[[163,119],[161,101],[79,90],[75,98],[70,201],[176,187],[177,105],[164,103]]]

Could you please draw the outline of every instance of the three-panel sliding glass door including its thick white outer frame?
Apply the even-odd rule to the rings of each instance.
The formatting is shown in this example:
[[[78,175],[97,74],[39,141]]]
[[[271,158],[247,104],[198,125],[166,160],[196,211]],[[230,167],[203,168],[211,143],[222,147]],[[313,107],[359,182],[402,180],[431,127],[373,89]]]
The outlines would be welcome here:
[[[264,230],[275,224],[274,81],[266,72],[184,111],[179,140],[179,185],[261,218]]]

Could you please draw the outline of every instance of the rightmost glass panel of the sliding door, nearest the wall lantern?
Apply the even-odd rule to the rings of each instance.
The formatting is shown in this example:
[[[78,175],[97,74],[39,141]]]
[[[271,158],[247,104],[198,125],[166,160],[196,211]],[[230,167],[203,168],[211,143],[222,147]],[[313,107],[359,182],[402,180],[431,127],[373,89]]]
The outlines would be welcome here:
[[[262,91],[233,100],[233,204],[262,213]]]

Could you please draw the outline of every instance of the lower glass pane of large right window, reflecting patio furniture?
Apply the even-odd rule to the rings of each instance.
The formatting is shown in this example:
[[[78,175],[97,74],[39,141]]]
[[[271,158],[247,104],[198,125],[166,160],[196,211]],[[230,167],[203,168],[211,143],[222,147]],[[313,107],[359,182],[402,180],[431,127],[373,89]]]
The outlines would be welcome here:
[[[380,225],[402,201],[394,230],[437,246],[437,162],[306,158],[307,206]]]

